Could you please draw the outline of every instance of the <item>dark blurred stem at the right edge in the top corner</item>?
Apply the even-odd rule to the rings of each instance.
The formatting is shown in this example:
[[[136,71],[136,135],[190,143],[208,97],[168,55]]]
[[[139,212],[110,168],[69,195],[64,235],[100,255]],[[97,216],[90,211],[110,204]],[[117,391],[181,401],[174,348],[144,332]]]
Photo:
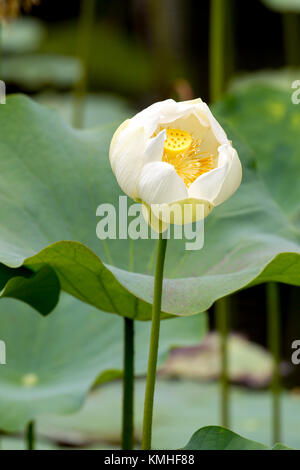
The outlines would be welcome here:
[[[296,67],[300,63],[298,44],[300,41],[299,34],[299,17],[296,13],[284,13],[283,33],[286,65]]]

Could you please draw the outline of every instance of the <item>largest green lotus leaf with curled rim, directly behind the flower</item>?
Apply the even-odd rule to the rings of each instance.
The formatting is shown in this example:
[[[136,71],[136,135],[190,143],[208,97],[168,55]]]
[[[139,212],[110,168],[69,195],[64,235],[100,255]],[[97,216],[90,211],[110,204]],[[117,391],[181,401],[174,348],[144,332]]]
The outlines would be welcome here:
[[[274,98],[276,93],[269,91]],[[290,96],[280,96],[289,114],[297,115]],[[170,240],[163,294],[168,314],[204,311],[251,283],[300,284],[299,185],[291,184],[298,163],[293,157],[286,165],[286,152],[297,154],[300,133],[294,121],[278,116],[282,104],[264,94],[259,99],[255,112],[255,105],[242,108],[243,102],[231,98],[233,115],[239,109],[242,116],[241,124],[228,129],[242,160],[251,162],[253,152],[265,154],[268,159],[262,161],[270,162],[272,176],[263,181],[244,171],[238,192],[206,219],[201,251],[186,251],[185,240]],[[257,129],[260,137],[240,139],[242,124]],[[0,261],[33,271],[46,264],[62,289],[80,300],[147,320],[155,240],[101,242],[95,234],[97,206],[109,202],[118,208],[121,194],[108,161],[115,127],[77,131],[22,96],[0,107]]]

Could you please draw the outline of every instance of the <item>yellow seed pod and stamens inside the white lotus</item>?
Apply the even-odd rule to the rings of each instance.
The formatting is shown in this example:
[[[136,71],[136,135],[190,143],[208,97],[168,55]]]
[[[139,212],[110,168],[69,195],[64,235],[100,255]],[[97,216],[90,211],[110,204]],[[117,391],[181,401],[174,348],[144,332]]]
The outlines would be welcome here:
[[[173,165],[176,173],[189,188],[198,176],[215,168],[213,155],[200,152],[201,139],[180,129],[167,129],[163,161]]]

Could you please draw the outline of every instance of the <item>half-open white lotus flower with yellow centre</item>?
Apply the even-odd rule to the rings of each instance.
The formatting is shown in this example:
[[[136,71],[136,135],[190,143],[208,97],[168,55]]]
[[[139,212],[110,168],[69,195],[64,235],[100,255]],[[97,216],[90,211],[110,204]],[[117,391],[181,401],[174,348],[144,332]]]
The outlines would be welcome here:
[[[144,215],[172,223],[206,217],[238,189],[242,167],[224,130],[201,100],[166,100],[121,124],[110,146],[110,163],[122,190],[142,202]],[[196,211],[197,205],[203,211]],[[155,208],[155,209],[153,209]],[[157,227],[156,227],[157,228]]]

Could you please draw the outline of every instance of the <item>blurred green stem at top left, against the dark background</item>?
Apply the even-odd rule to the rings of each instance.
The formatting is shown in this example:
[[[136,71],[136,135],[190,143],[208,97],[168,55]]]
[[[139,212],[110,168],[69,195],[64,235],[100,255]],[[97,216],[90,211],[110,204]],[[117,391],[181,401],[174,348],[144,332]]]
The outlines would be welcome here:
[[[81,61],[82,77],[74,88],[74,127],[82,127],[84,121],[84,100],[88,86],[88,65],[91,49],[91,36],[95,17],[96,0],[81,0],[78,24],[78,57]]]

